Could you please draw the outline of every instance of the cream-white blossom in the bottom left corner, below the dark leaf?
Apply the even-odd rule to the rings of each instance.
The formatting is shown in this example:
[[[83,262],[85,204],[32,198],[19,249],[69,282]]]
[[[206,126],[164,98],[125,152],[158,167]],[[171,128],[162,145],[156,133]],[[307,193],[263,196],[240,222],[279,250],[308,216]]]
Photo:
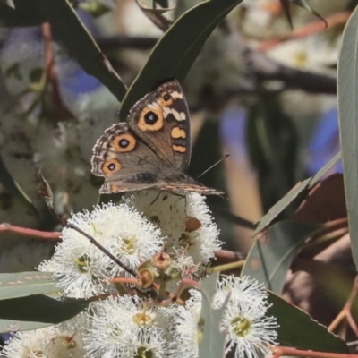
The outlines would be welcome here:
[[[83,358],[82,336],[87,325],[84,314],[56,326],[16,332],[6,342],[2,357],[6,358]]]

